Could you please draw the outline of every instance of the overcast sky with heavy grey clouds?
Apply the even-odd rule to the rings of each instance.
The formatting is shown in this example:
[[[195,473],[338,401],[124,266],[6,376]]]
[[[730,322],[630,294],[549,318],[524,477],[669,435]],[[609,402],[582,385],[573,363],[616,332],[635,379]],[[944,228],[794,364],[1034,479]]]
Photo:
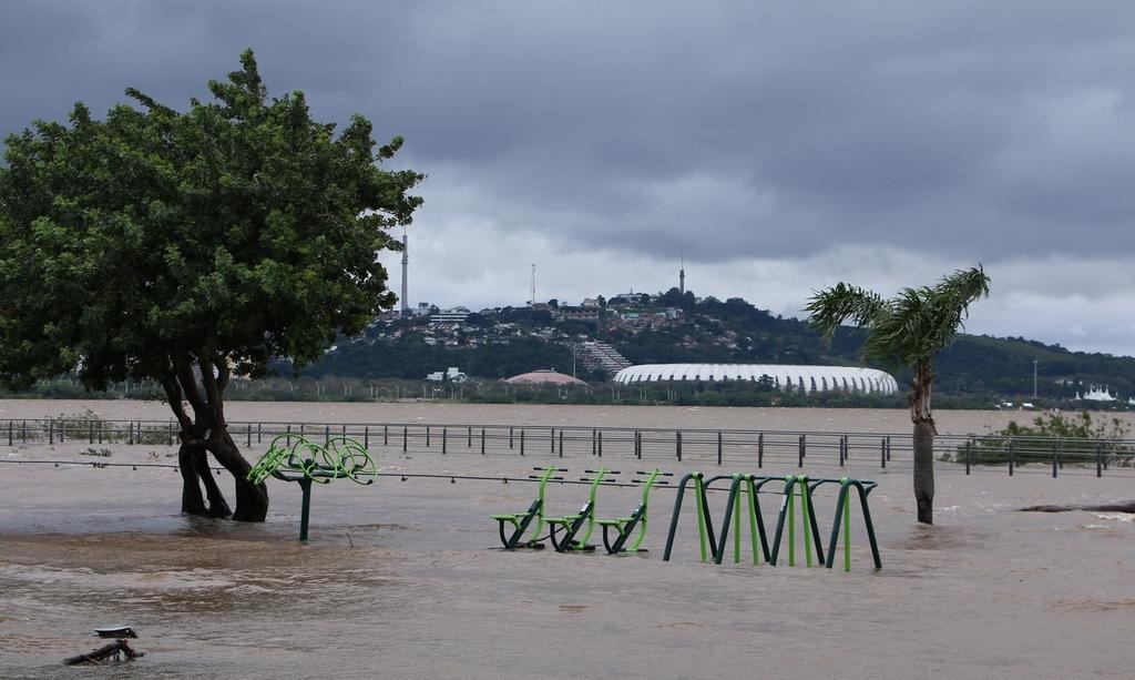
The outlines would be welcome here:
[[[8,0],[0,132],[175,108],[255,50],[429,175],[410,303],[678,285],[802,316],[978,262],[970,333],[1135,354],[1127,0]],[[400,285],[398,258],[384,258]]]

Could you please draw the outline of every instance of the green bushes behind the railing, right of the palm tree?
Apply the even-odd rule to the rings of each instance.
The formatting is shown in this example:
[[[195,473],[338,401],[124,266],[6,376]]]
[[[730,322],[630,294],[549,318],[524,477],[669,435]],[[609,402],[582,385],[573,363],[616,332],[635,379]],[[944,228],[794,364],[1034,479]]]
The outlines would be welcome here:
[[[1118,418],[1095,418],[1087,411],[1069,417],[1045,413],[1031,426],[1010,420],[1006,428],[974,439],[968,452],[967,445],[958,446],[952,460],[964,463],[968,455],[973,464],[1002,465],[1012,457],[1024,465],[1059,455],[1061,463],[1094,464],[1099,452],[1111,464],[1130,464],[1135,448],[1125,442],[1129,436],[1130,427]],[[942,460],[951,460],[950,454]]]

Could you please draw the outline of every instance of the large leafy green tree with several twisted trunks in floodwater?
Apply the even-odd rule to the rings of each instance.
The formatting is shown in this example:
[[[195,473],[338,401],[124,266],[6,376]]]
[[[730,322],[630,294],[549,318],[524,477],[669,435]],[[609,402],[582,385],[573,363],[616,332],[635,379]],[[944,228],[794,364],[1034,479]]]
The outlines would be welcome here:
[[[136,107],[7,138],[0,167],[0,380],[76,371],[94,391],[162,385],[180,425],[182,510],[262,521],[263,485],[228,434],[225,388],[274,356],[302,366],[394,295],[376,255],[423,175],[385,170],[355,116],[339,133],[302,92],[269,98],[251,51],[212,99]],[[230,511],[207,454],[235,478]],[[202,494],[202,487],[204,495]],[[208,501],[208,503],[207,503]]]

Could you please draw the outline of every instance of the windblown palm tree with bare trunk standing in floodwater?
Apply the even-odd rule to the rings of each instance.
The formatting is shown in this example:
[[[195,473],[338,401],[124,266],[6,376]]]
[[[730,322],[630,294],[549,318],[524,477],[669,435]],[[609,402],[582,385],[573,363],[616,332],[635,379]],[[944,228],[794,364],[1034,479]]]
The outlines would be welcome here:
[[[930,412],[932,361],[962,326],[969,304],[990,294],[990,278],[978,265],[943,278],[933,288],[905,288],[883,300],[877,293],[839,283],[808,301],[809,324],[831,343],[844,321],[864,328],[863,356],[891,369],[914,370],[910,420],[914,422],[915,502],[918,521],[934,523],[934,417]]]

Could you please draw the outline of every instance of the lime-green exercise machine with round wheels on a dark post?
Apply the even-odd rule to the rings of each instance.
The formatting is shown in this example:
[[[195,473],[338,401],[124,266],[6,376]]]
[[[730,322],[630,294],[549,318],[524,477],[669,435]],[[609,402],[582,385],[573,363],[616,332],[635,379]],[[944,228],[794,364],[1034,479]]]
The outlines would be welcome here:
[[[331,437],[322,445],[303,435],[286,434],[272,439],[246,479],[260,484],[275,477],[300,485],[303,502],[300,511],[300,540],[308,540],[311,513],[311,485],[350,479],[355,484],[375,484],[378,467],[367,448],[350,437]]]

